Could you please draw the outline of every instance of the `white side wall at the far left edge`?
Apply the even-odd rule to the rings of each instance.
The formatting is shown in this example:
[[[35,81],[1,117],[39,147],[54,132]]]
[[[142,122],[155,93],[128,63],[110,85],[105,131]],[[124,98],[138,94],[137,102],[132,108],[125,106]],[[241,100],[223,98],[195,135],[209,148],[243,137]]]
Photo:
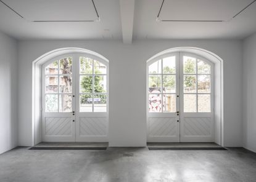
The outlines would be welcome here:
[[[17,42],[0,32],[0,154],[17,146]]]

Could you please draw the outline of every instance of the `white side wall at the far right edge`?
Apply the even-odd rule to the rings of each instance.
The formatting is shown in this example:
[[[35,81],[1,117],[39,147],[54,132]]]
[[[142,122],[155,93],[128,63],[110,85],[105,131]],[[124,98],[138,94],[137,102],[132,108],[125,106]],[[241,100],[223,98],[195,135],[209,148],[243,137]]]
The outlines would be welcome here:
[[[256,152],[256,34],[243,41],[243,146]]]

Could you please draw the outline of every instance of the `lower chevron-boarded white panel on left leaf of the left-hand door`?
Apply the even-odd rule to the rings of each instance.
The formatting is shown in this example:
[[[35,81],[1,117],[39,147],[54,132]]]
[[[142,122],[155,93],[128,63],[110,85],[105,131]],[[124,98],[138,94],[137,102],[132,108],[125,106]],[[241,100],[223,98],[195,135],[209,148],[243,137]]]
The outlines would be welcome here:
[[[72,136],[71,117],[45,117],[46,136]]]

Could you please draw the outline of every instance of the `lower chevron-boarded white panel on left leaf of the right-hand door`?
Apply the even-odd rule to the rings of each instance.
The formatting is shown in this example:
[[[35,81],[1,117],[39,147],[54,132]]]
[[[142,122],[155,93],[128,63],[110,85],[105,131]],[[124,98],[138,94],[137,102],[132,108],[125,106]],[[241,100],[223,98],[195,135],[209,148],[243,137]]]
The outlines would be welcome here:
[[[175,136],[176,119],[170,117],[149,118],[149,136]]]

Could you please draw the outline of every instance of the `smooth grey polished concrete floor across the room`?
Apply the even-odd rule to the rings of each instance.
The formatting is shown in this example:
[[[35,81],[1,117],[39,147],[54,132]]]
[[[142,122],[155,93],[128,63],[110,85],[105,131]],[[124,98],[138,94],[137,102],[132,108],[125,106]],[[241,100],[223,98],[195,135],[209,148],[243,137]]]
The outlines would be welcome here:
[[[133,157],[124,157],[133,153]],[[48,151],[15,148],[0,155],[1,182],[256,181],[256,154],[228,151]]]

